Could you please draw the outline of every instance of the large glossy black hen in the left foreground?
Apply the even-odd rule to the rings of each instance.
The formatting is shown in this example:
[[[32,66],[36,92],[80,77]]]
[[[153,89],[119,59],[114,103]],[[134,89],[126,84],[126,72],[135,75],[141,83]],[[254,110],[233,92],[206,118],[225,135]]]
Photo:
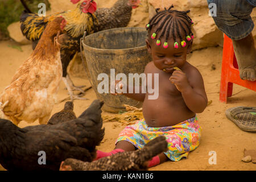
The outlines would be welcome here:
[[[93,101],[79,118],[56,125],[28,126],[20,129],[9,120],[0,119],[0,163],[7,170],[59,170],[67,158],[91,162],[96,146],[104,137],[101,107]],[[46,164],[39,165],[40,151]]]

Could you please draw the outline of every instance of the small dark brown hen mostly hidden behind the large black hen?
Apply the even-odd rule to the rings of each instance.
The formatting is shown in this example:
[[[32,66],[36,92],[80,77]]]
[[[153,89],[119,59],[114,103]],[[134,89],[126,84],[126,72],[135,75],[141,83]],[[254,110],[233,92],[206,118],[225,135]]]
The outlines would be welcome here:
[[[57,123],[63,123],[65,121],[70,121],[76,119],[76,114],[73,111],[73,102],[68,101],[64,105],[64,109],[52,115],[49,119],[47,125],[56,125]]]

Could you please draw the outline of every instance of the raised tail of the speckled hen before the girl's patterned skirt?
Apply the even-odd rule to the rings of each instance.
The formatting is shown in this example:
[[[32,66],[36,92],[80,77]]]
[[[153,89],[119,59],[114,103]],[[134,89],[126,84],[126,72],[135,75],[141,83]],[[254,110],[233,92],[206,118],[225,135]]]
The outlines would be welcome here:
[[[141,156],[144,158],[144,161],[152,159],[154,156],[161,154],[164,151],[167,151],[168,143],[166,137],[160,136],[150,142],[148,142],[141,150]]]

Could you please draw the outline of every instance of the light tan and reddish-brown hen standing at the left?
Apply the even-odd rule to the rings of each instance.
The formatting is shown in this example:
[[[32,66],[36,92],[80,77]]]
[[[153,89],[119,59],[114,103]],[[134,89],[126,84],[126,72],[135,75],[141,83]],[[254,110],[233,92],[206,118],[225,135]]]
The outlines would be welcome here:
[[[36,119],[46,124],[49,119],[62,76],[56,36],[64,27],[65,19],[61,17],[47,24],[35,50],[0,94],[0,109],[15,125]]]

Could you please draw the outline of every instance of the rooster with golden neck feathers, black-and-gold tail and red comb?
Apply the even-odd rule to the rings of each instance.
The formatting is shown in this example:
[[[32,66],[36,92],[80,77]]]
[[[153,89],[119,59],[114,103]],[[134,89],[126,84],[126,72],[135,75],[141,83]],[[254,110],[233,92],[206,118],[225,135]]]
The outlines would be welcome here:
[[[28,40],[32,40],[33,47],[35,47],[49,22],[60,15],[67,20],[67,25],[65,26],[63,34],[67,34],[69,42],[65,43],[66,46],[60,44],[63,82],[68,89],[71,101],[74,99],[85,99],[73,94],[72,90],[79,90],[82,93],[84,93],[84,91],[81,88],[73,85],[73,82],[67,73],[67,67],[69,62],[73,59],[73,56],[75,56],[76,52],[79,51],[80,38],[84,35],[84,32],[86,31],[86,33],[89,35],[98,31],[98,21],[96,16],[93,14],[97,9],[96,2],[93,0],[85,0],[81,2],[78,0],[71,0],[71,2],[74,4],[79,2],[76,9],[48,16],[39,16],[38,14],[32,13],[23,0],[20,1],[25,8],[23,14],[20,16],[20,28],[23,35],[25,35]]]

